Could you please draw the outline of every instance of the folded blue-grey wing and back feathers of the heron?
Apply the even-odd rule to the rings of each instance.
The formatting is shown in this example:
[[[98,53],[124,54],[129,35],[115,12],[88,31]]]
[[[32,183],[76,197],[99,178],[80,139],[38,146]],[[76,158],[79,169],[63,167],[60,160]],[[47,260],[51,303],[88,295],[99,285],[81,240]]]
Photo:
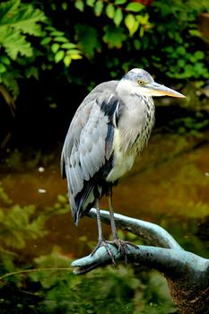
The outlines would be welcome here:
[[[110,156],[110,143],[114,134],[112,130],[109,132],[109,115],[101,109],[101,105],[107,102],[109,95],[115,95],[117,84],[118,81],[101,83],[83,100],[75,112],[65,138],[61,171],[67,179],[75,221],[78,220],[77,211],[81,210],[75,202],[75,197],[82,192],[84,199],[88,198],[91,187],[86,185],[86,181],[100,170]]]

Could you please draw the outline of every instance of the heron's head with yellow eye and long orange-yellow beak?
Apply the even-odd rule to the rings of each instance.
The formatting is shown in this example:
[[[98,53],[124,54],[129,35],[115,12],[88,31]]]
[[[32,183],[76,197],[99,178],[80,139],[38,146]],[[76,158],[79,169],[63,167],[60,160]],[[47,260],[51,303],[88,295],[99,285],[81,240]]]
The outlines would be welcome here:
[[[131,93],[142,96],[171,96],[185,98],[179,92],[171,90],[169,87],[155,83],[151,74],[143,69],[132,69],[120,81],[123,88]]]

